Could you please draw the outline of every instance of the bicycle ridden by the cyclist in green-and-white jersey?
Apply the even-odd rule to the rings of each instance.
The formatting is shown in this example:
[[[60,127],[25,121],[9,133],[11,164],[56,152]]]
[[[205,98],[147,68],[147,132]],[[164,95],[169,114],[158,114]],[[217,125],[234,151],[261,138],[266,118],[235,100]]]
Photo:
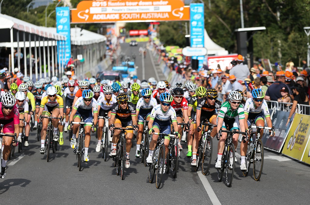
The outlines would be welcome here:
[[[245,135],[246,133],[244,132],[239,132],[236,129],[233,129],[232,131],[230,130],[222,130],[222,128],[219,130],[219,136],[222,136],[222,133],[227,133],[227,137],[225,140],[225,148],[224,152],[222,155],[222,167],[217,170],[217,178],[218,181],[222,181],[223,178],[223,173],[224,169],[226,170],[226,183],[225,185],[227,187],[230,187],[232,185],[232,179],[233,179],[233,174],[235,171],[235,146],[232,143],[232,136],[234,134],[243,134]]]

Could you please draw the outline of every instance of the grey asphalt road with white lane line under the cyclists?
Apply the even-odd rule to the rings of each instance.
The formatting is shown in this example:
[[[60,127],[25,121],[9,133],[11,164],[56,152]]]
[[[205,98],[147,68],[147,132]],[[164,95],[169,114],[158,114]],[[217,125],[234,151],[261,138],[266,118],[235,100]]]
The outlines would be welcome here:
[[[139,45],[140,46],[140,45]],[[142,58],[139,47],[122,45],[122,52],[135,52],[142,80]],[[145,78],[156,74],[149,53],[144,59]],[[155,68],[158,69],[158,68]],[[157,70],[159,72],[159,69]],[[158,73],[160,74],[160,72]],[[160,75],[162,78],[162,76]],[[263,174],[253,179],[252,167],[247,177],[240,171],[238,159],[232,187],[218,182],[214,164],[207,176],[194,172],[186,151],[181,151],[177,178],[166,174],[161,189],[148,183],[148,167],[135,158],[131,150],[131,165],[125,170],[125,180],[116,175],[113,160],[107,162],[95,152],[96,138],[91,135],[90,161],[77,168],[76,155],[69,146],[68,134],[51,161],[39,153],[40,142],[35,133],[29,136],[29,147],[16,153],[7,163],[7,176],[0,179],[0,204],[308,204],[308,165],[265,150]],[[217,141],[214,139],[214,147]],[[183,147],[186,145],[182,142]],[[238,146],[237,152],[240,153]],[[214,162],[217,150],[213,150]],[[239,158],[240,155],[237,155]],[[223,178],[224,180],[224,178]],[[211,201],[212,199],[212,201]]]

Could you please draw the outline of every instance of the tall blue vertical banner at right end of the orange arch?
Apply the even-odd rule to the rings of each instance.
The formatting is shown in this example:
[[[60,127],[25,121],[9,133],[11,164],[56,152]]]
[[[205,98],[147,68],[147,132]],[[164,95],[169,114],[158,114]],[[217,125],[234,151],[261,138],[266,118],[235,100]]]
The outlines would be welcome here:
[[[205,47],[205,14],[203,3],[191,3],[190,8],[190,30],[191,47]],[[198,68],[203,67],[204,56],[193,56],[192,59],[198,59]]]

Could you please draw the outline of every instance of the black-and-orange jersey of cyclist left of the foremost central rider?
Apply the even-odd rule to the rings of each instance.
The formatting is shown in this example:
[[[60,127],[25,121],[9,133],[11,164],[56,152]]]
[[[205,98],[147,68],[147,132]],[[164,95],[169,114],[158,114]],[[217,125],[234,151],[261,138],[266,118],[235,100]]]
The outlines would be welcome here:
[[[127,108],[123,110],[119,103],[114,103],[111,109],[111,115],[122,121],[131,121],[131,116],[136,116],[136,108],[132,102],[127,102]]]

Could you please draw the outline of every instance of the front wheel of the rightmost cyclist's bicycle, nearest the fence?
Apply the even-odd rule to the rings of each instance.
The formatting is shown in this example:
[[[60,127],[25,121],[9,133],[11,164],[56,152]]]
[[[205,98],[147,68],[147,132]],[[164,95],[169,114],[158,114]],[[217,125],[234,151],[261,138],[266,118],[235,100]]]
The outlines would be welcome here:
[[[260,148],[260,152],[257,152],[257,148]],[[259,181],[264,164],[264,146],[263,142],[259,139],[256,143],[255,156],[253,161],[253,174],[255,181]]]

